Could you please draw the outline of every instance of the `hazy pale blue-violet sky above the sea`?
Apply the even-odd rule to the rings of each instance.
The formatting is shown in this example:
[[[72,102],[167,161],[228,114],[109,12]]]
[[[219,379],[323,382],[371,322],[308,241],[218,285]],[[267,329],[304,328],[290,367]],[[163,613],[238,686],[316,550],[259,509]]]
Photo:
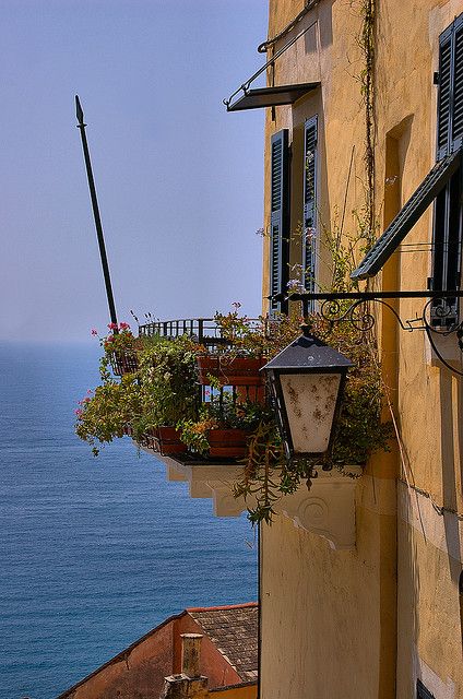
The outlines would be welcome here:
[[[266,0],[0,0],[0,341],[109,322],[79,94],[119,320],[261,307]],[[256,85],[262,83],[256,83]]]

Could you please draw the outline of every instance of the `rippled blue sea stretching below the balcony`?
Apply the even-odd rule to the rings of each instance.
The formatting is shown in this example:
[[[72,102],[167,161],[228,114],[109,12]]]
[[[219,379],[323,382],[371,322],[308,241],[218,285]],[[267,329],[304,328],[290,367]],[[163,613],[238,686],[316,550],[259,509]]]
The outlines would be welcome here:
[[[73,410],[87,346],[0,346],[0,698],[52,699],[187,606],[257,599],[246,518],[218,519],[126,437],[95,459]]]

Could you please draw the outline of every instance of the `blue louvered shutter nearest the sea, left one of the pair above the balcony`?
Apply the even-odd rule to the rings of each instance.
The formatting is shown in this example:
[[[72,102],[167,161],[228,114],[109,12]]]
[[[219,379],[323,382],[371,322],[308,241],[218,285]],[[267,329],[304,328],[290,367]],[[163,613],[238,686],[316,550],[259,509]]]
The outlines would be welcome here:
[[[271,218],[269,295],[285,293],[289,250],[289,151],[288,130],[282,129],[271,142]],[[270,315],[287,312],[287,301],[270,300]]]

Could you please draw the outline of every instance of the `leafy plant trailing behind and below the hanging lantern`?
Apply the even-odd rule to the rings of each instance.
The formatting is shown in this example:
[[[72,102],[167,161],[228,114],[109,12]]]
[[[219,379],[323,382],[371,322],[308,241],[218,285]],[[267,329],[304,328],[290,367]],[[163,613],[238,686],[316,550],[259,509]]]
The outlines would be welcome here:
[[[389,450],[392,429],[390,423],[381,423],[383,389],[373,336],[351,323],[332,323],[317,313],[310,315],[307,322],[313,335],[354,364],[346,380],[332,450],[322,458],[288,463],[273,414],[269,412],[250,438],[242,477],[235,487],[236,496],[254,499],[256,506],[249,509],[252,522],[270,522],[275,502],[283,495],[294,493],[302,481],[310,487],[316,466],[343,471],[345,465],[365,465],[375,452]],[[300,332],[300,318],[284,318],[282,324],[287,344],[286,341],[290,342]],[[281,341],[277,335],[272,355],[282,348]],[[270,352],[271,344],[269,337]]]

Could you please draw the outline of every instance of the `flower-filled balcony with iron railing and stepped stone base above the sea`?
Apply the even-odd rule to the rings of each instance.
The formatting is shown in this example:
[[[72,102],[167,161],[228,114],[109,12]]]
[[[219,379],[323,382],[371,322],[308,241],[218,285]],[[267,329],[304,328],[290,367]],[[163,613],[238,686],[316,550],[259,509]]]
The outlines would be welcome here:
[[[353,359],[345,417],[333,450],[318,461],[287,461],[260,371],[299,334],[299,319],[247,319],[237,309],[147,322],[138,336],[119,327],[103,339],[102,386],[78,411],[78,435],[94,453],[130,435],[164,463],[169,481],[188,482],[191,497],[212,499],[217,517],[247,509],[252,521],[289,517],[334,548],[349,548],[356,478],[389,438],[380,422],[380,375],[352,329],[313,322],[319,336]]]

